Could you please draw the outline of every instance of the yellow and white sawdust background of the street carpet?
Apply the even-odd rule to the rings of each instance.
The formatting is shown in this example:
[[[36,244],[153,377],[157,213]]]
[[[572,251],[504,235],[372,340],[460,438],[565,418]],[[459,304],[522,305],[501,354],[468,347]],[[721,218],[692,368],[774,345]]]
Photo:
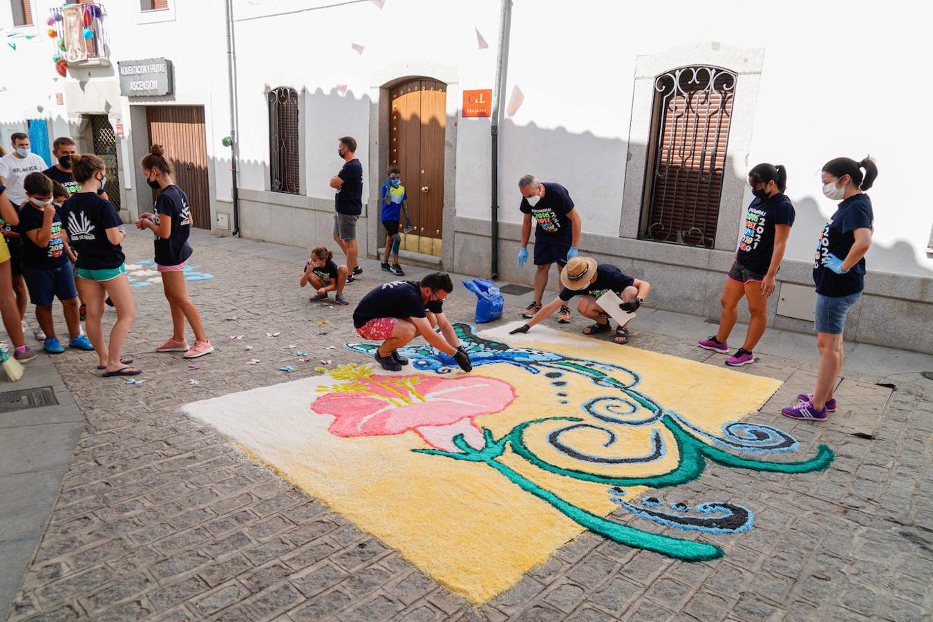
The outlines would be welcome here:
[[[526,343],[522,346],[527,347]],[[592,347],[592,340],[587,339],[587,346],[574,348],[542,339],[533,347],[628,367],[641,376],[640,392],[717,435],[723,423],[757,410],[781,385],[778,380],[621,348],[611,342]],[[411,370],[411,366],[406,367],[404,373],[411,374]],[[566,386],[553,387],[543,372],[532,375],[508,364],[476,367],[473,375],[504,380],[518,394],[505,411],[476,418],[496,438],[521,422],[543,417],[579,417],[598,423],[580,404],[592,397],[618,394],[570,373],[560,379]],[[625,377],[620,375],[620,380]],[[232,436],[259,461],[472,602],[487,601],[513,586],[522,574],[584,531],[487,464],[412,452],[426,447],[413,432],[355,438],[330,435],[327,425],[332,418],[309,408],[318,395],[313,390],[320,381],[297,380],[190,404],[185,409]],[[569,397],[557,396],[558,392]],[[561,405],[562,399],[570,403]],[[563,440],[578,451],[595,455],[643,456],[651,451],[651,431],[659,430],[667,448],[660,460],[598,467],[581,463],[547,444],[548,433],[567,424],[531,426],[525,435],[528,447],[550,463],[580,470],[598,468],[595,472],[602,475],[654,475],[673,469],[678,461],[672,436],[656,423],[612,426],[618,438],[611,447],[604,446],[606,434],[595,430],[577,430],[564,435]],[[508,450],[500,460],[537,485],[599,516],[618,507],[609,500],[605,484],[550,474]],[[642,491],[627,489],[630,497]]]

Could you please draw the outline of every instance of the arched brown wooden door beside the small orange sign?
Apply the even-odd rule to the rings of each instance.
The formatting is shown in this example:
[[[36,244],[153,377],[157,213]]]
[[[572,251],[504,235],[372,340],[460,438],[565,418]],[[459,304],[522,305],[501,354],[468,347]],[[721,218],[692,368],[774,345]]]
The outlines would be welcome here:
[[[389,162],[401,170],[414,225],[411,233],[402,237],[402,248],[440,256],[447,85],[418,79],[391,92]]]

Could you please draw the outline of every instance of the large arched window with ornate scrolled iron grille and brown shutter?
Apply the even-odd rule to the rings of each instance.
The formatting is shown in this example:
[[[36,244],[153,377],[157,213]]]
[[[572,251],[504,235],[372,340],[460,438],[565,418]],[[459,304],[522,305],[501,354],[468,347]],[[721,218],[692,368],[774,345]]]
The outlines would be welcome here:
[[[641,239],[713,247],[735,79],[702,65],[655,79]]]

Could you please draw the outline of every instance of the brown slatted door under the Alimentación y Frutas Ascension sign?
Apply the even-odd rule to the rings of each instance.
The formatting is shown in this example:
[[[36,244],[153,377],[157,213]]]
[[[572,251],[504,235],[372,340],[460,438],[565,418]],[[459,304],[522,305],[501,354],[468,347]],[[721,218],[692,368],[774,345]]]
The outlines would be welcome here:
[[[191,225],[211,228],[207,141],[202,106],[148,106],[149,145],[162,145],[174,168],[175,184],[188,195]],[[156,192],[152,193],[155,200]]]

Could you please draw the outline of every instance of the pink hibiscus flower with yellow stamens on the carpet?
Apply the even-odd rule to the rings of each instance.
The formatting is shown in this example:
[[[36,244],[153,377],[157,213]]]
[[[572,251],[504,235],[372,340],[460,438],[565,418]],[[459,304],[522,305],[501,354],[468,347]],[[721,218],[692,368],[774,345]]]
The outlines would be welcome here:
[[[369,366],[341,366],[331,372],[343,384],[321,386],[313,412],[330,415],[327,430],[338,436],[399,435],[409,430],[435,449],[459,451],[453,437],[482,449],[478,415],[501,412],[515,400],[502,380],[484,376],[373,375]]]

